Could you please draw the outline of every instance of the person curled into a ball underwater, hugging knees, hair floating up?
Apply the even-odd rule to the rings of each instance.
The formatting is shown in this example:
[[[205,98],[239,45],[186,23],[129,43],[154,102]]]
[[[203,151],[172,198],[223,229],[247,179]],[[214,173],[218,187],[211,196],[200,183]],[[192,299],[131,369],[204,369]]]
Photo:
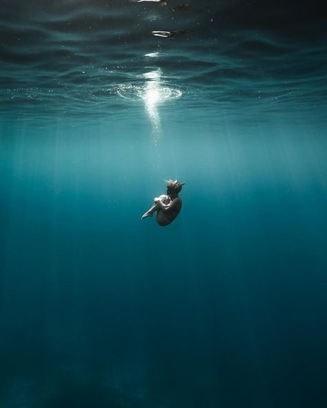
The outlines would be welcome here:
[[[185,183],[179,183],[177,180],[168,180],[167,194],[161,194],[161,196],[155,198],[155,203],[150,210],[143,214],[141,220],[148,216],[152,216],[154,212],[157,212],[157,223],[164,227],[175,220],[179,212],[181,211],[181,198],[178,194],[181,192],[181,186]]]

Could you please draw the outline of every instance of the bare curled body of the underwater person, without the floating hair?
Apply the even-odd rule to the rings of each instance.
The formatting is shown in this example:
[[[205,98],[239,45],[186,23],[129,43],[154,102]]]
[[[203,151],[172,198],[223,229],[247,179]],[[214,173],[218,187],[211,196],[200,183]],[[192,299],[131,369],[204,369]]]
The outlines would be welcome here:
[[[148,216],[152,216],[157,212],[157,223],[161,226],[170,224],[181,210],[181,198],[177,193],[170,193],[169,195],[162,194],[155,198],[155,203],[142,216],[142,220]]]

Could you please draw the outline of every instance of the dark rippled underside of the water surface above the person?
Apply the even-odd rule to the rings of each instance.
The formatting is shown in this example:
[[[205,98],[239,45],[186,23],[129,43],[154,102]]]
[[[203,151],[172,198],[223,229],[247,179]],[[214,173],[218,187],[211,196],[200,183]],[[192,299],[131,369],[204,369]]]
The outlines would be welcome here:
[[[141,110],[155,82],[165,109],[217,119],[326,116],[324,10],[300,1],[1,1],[1,112],[48,121]],[[191,30],[175,39],[152,30]],[[151,76],[151,73],[157,76]],[[121,92],[122,91],[122,92]],[[123,98],[121,96],[123,95]]]

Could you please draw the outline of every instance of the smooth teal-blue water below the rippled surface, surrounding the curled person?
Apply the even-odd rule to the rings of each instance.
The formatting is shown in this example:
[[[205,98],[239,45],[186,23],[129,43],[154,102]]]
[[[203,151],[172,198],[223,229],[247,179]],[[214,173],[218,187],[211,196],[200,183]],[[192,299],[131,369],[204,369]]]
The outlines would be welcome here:
[[[1,132],[1,405],[323,407],[324,136],[127,128]]]

